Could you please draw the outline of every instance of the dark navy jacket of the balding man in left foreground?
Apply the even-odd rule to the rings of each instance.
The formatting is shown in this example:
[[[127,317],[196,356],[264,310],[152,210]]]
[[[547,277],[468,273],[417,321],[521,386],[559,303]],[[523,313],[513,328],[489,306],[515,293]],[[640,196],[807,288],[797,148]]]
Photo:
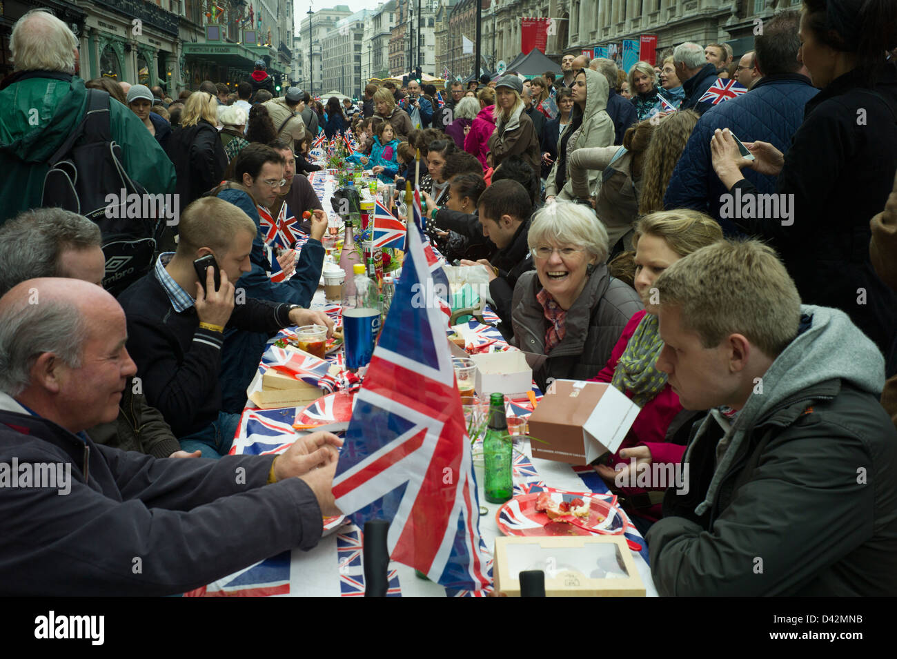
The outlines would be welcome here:
[[[272,455],[157,460],[0,411],[0,463],[13,460],[65,465],[71,490],[4,488],[7,597],[182,594],[321,537],[321,511],[304,481],[266,485]],[[234,478],[239,469],[244,478]]]

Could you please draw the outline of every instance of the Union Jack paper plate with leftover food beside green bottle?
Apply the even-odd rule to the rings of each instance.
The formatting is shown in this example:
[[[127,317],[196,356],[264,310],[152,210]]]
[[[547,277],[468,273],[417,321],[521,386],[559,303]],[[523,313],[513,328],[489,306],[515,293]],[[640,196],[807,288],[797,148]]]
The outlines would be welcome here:
[[[536,500],[544,493],[547,493],[555,503],[562,501],[570,503],[573,499],[582,499],[583,504],[589,508],[588,517],[577,519],[591,531],[557,519],[552,520],[544,512],[537,511]],[[590,492],[552,489],[520,494],[510,499],[495,513],[495,521],[501,533],[505,535],[592,535],[593,533],[619,535],[626,529],[623,511],[614,506],[614,499],[607,500]]]

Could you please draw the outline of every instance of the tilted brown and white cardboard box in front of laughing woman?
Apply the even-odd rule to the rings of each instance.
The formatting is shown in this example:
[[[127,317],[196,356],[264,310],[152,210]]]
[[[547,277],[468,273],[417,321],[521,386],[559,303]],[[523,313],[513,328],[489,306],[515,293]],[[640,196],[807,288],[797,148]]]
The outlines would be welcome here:
[[[590,464],[616,453],[640,412],[610,384],[554,380],[527,421],[533,457]]]

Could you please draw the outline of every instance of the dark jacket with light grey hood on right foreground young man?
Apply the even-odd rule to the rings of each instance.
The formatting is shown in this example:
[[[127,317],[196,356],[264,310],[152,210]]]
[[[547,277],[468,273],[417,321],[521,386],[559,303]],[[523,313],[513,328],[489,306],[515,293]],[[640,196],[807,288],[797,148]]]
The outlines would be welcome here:
[[[660,594],[897,594],[884,360],[843,312],[802,311],[731,427],[711,411],[692,429],[688,487],[647,535]]]

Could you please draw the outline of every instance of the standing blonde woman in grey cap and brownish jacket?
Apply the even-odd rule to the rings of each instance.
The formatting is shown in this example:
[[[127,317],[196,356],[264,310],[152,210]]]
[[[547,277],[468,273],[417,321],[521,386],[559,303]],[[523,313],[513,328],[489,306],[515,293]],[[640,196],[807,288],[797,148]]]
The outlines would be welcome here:
[[[524,111],[522,92],[523,82],[516,75],[505,75],[495,83],[495,132],[488,142],[492,169],[497,169],[509,155],[518,155],[533,171],[540,170],[539,135]]]

